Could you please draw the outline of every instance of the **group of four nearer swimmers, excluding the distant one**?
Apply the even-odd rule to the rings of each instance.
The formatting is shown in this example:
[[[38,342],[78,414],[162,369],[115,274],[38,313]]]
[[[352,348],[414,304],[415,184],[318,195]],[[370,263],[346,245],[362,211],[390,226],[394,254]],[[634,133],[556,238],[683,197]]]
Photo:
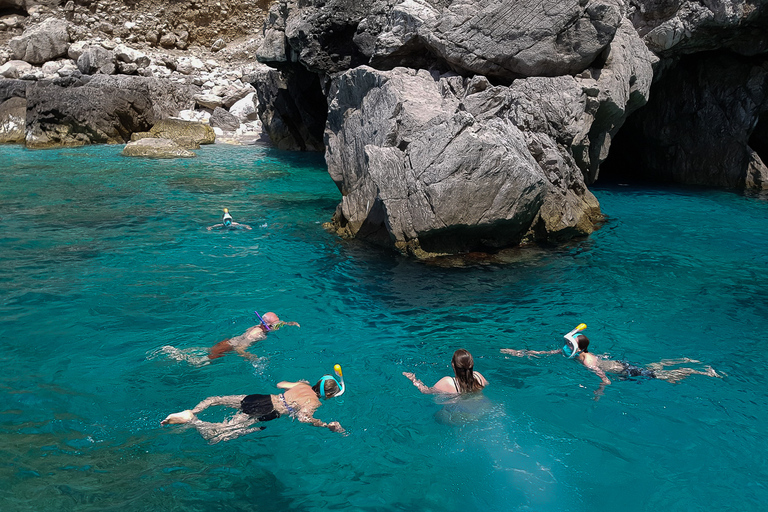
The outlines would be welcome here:
[[[259,316],[258,313],[256,315]],[[286,325],[299,326],[296,322],[282,322],[272,312],[265,314],[263,317],[259,316],[259,320],[259,324],[249,328],[242,335],[224,340],[211,347],[208,357],[216,359],[230,351],[235,351],[243,357],[251,357],[245,349],[254,342],[265,339],[268,332]],[[662,360],[658,363],[652,363],[647,367],[639,367],[626,361],[615,361],[595,356],[589,351],[589,339],[584,334],[581,334],[581,331],[586,329],[586,327],[585,324],[580,324],[566,334],[564,336],[566,344],[562,349],[517,350],[503,348],[501,352],[517,357],[538,357],[540,355],[565,353],[566,356],[575,359],[600,378],[601,384],[600,388],[596,391],[597,394],[602,393],[604,387],[611,384],[610,379],[607,377],[609,373],[618,375],[620,378],[644,377],[666,380],[672,383],[676,383],[689,375],[720,377],[711,366],[706,366],[704,371],[693,368],[664,369],[666,366],[699,362],[688,358]],[[403,375],[413,382],[413,385],[419,391],[426,394],[463,395],[477,393],[488,385],[486,378],[480,372],[474,371],[472,354],[465,349],[459,349],[453,353],[451,367],[453,368],[454,375],[441,378],[431,387],[425,385],[411,372],[403,372]],[[306,380],[279,382],[277,387],[285,391],[276,395],[229,395],[206,398],[193,409],[168,415],[161,424],[191,424],[211,443],[226,441],[250,432],[263,430],[265,427],[256,424],[286,415],[316,427],[326,427],[333,432],[344,432],[339,422],[325,423],[314,417],[315,411],[322,404],[320,402],[321,398],[337,397],[345,391],[341,367],[336,365],[334,371],[338,379],[333,375],[325,375],[314,386],[310,386]],[[221,423],[206,422],[197,417],[197,414],[215,405],[231,407],[236,409],[237,412],[232,418]]]

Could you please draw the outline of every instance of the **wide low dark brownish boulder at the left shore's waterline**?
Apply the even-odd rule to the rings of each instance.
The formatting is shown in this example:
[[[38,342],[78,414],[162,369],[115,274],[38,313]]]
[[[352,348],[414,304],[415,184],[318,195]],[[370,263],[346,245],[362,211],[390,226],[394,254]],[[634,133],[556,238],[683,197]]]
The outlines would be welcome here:
[[[27,147],[123,144],[132,133],[188,108],[196,90],[122,75],[66,85],[37,82],[27,88]]]

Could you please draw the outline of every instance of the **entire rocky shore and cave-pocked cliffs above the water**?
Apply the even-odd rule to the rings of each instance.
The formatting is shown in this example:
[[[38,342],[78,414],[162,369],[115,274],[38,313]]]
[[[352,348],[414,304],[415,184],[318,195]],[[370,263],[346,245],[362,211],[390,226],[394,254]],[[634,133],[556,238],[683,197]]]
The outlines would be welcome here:
[[[588,235],[601,171],[768,190],[768,0],[3,8],[0,142],[324,151],[332,229],[418,258]]]

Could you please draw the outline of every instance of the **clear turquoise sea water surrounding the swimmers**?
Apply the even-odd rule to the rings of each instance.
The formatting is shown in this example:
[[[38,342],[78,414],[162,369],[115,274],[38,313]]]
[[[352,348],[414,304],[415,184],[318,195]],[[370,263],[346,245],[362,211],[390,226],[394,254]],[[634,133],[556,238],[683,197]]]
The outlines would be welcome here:
[[[595,189],[589,239],[506,265],[442,268],[342,241],[319,155],[205,147],[0,147],[0,508],[26,510],[764,510],[768,202],[724,191]],[[252,231],[207,231],[221,209]],[[301,328],[248,361],[208,347],[272,310]],[[691,357],[727,376],[598,381],[550,349]],[[456,348],[491,382],[469,412],[421,395]],[[221,394],[277,392],[334,363],[317,413],[207,444],[160,427]]]

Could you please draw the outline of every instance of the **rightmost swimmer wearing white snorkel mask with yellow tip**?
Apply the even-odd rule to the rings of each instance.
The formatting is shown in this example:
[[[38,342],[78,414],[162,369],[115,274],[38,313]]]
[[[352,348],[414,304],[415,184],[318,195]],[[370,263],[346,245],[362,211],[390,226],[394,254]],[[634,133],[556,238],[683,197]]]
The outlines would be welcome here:
[[[589,351],[589,338],[580,331],[586,329],[586,324],[579,324],[574,330],[564,336],[566,345],[558,350],[515,350],[503,348],[501,352],[516,357],[539,355],[551,355],[565,352],[569,358],[577,359],[588,370],[597,375],[602,384],[598,391],[611,383],[606,373],[618,375],[621,379],[630,377],[645,377],[648,379],[660,379],[667,382],[676,383],[688,377],[689,375],[706,375],[707,377],[721,377],[711,366],[706,366],[705,371],[695,370],[693,368],[674,368],[665,370],[665,366],[674,366],[683,363],[698,363],[695,359],[664,359],[658,363],[651,363],[645,367],[635,366],[627,361],[615,361],[613,359],[600,358]]]

